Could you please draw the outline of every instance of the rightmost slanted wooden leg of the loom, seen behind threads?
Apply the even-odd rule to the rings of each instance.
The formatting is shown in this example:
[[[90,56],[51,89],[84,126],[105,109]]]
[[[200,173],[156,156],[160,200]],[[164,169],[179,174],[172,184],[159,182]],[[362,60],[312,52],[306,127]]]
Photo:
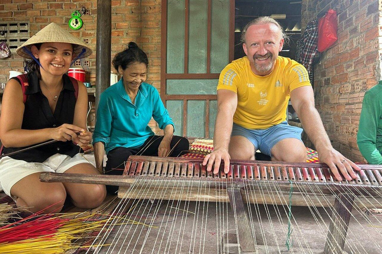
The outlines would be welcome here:
[[[324,254],[343,254],[353,201],[354,195],[352,194],[339,194],[336,197]]]

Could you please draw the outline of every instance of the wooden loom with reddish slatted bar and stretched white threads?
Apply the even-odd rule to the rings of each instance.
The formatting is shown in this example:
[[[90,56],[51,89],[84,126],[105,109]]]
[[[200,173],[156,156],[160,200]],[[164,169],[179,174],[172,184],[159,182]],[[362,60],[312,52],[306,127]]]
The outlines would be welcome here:
[[[328,233],[323,252],[325,254],[344,253],[343,249],[353,207],[360,210],[361,208],[382,206],[380,202],[382,197],[382,167],[380,166],[360,165],[362,171],[358,173],[357,179],[339,183],[333,178],[328,167],[323,164],[231,161],[231,169],[228,174],[224,174],[220,171],[218,175],[213,175],[211,172],[206,172],[206,167],[202,166],[201,162],[202,160],[200,159],[189,160],[181,158],[130,156],[126,162],[123,177],[42,173],[41,179],[47,182],[60,181],[118,185],[120,186],[118,196],[121,197],[122,200],[177,200],[177,209],[186,207],[186,203],[181,203],[179,202],[180,200],[229,202],[233,217],[235,218],[234,226],[236,227],[236,232],[234,233],[236,234],[228,234],[228,228],[224,227],[224,225],[223,227],[220,226],[220,230],[226,232],[219,232],[217,236],[217,238],[220,237],[222,239],[217,247],[217,252],[219,253],[281,253],[283,251],[280,245],[257,244],[256,233],[253,227],[256,218],[254,218],[253,213],[256,213],[258,220],[261,220],[261,217],[259,218],[260,213],[257,211],[251,212],[250,206],[245,204],[247,202],[254,203],[257,207],[259,207],[259,203],[278,207],[277,205],[287,205],[289,201],[293,205],[329,207],[332,214],[330,216],[330,225],[327,227]],[[313,198],[311,198],[311,196],[313,196]],[[291,197],[290,200],[289,197]],[[174,204],[174,201],[172,204]],[[121,207],[122,206],[121,204]],[[219,212],[223,214],[223,217],[224,214],[228,217],[228,206],[220,205],[220,203],[216,206],[219,206]],[[118,209],[122,210],[121,207]],[[167,209],[168,208],[166,208],[166,210]],[[150,210],[154,210],[154,214],[158,214],[159,211],[156,208]],[[277,208],[277,210],[280,213],[280,208]],[[289,208],[284,208],[284,212],[286,214],[289,213]],[[183,215],[184,214],[185,212],[183,212]],[[327,214],[330,215],[330,213]],[[200,214],[195,213],[194,220],[195,217],[199,216]],[[184,217],[185,216],[182,216],[182,223]],[[320,220],[323,222],[322,217],[319,217],[320,216],[317,216],[316,218],[317,225],[320,224]],[[289,215],[289,226],[291,218],[294,220],[294,217]],[[368,218],[365,219],[368,220]],[[223,224],[224,220],[223,218]],[[144,223],[147,224],[147,221],[145,220]],[[378,223],[382,225],[379,220]],[[115,224],[117,224],[117,222],[115,222]],[[217,224],[219,223],[217,222],[216,225]],[[285,225],[285,223],[283,223],[283,225]],[[139,226],[135,227],[134,233],[137,230],[139,231],[139,229],[137,229],[138,227]],[[130,230],[131,228],[129,232]],[[120,230],[118,230],[118,232],[119,231]],[[156,253],[156,251],[163,253],[161,247],[158,249],[158,247],[152,246],[150,247],[151,249],[144,249],[145,245],[149,245],[147,238],[151,231],[152,229],[150,228],[144,242],[140,243],[138,247],[137,243],[135,243],[133,251],[137,250],[137,253],[147,253],[148,250],[150,250],[151,253]],[[218,228],[217,231],[219,231]],[[125,240],[134,238],[133,236],[127,238],[128,234],[129,233],[125,236]],[[140,230],[139,236],[141,234],[142,229]],[[159,235],[160,233],[158,232],[158,236]],[[262,237],[266,243],[265,235],[262,235]],[[102,236],[102,238],[104,238],[104,240],[101,242],[106,242],[105,237]],[[117,237],[117,239],[120,238],[122,237]],[[195,242],[196,237],[194,238]],[[130,242],[129,246],[131,244]],[[157,240],[155,242],[157,242]],[[168,242],[169,241],[167,241],[167,243]],[[298,240],[298,247],[293,247],[289,251],[291,253],[301,254],[322,253],[322,250],[309,247],[309,243],[306,242],[309,241]],[[375,244],[379,246],[378,243]],[[349,247],[349,249],[351,253],[361,253],[357,252],[359,247]],[[109,250],[110,251],[106,253],[115,252],[114,249],[109,248]],[[144,250],[144,252],[142,252],[142,250]],[[170,251],[170,247],[167,252],[166,250],[167,244],[165,253]],[[179,250],[179,253],[183,252]],[[202,253],[200,249],[199,253]]]

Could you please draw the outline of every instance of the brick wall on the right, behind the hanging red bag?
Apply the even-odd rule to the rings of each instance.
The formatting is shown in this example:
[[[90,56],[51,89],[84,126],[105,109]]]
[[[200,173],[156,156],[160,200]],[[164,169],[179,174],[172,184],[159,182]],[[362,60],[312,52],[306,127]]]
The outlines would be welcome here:
[[[357,146],[357,131],[365,91],[381,79],[381,4],[381,0],[302,3],[304,27],[329,8],[337,11],[338,41],[323,53],[314,68],[314,95],[334,148],[353,161],[363,160]]]

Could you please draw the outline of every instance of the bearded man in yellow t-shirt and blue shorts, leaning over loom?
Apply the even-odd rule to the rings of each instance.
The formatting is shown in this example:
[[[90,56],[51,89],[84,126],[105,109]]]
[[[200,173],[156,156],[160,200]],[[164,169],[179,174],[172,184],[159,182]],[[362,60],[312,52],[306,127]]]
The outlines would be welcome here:
[[[228,173],[229,160],[254,160],[255,151],[273,161],[305,162],[306,150],[301,128],[286,122],[290,98],[302,126],[315,145],[320,162],[326,163],[342,181],[356,178],[360,168],[336,151],[314,107],[313,89],[306,69],[279,56],[285,34],[270,17],[259,17],[243,29],[244,58],[228,64],[220,73],[217,86],[218,112],[214,132],[214,151],[203,165],[213,173],[221,160]]]

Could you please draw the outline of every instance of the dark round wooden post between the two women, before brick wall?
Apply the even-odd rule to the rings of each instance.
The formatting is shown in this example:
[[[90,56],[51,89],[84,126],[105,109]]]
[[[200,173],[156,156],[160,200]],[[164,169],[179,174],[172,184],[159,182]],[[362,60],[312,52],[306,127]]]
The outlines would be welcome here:
[[[101,93],[110,86],[111,1],[97,0],[97,43],[95,73],[95,108]]]

